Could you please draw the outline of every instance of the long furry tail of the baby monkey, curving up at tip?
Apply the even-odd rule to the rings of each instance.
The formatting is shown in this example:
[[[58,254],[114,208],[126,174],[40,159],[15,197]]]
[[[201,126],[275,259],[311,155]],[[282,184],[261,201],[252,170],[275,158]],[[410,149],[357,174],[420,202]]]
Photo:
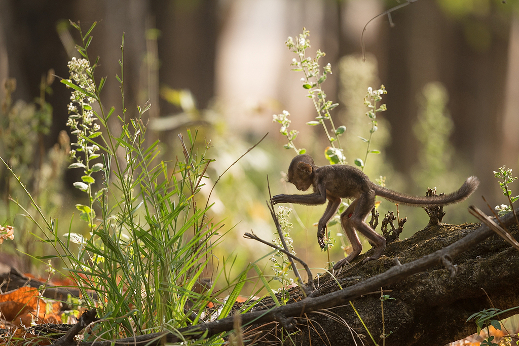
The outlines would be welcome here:
[[[477,189],[478,185],[480,185],[479,179],[475,176],[469,176],[465,183],[463,183],[463,185],[461,185],[457,191],[449,193],[445,196],[430,197],[405,195],[404,193],[393,191],[375,184],[373,184],[373,188],[375,189],[377,196],[384,197],[385,199],[388,199],[392,202],[426,207],[453,204],[464,201],[469,198],[470,195],[472,195],[472,193]]]

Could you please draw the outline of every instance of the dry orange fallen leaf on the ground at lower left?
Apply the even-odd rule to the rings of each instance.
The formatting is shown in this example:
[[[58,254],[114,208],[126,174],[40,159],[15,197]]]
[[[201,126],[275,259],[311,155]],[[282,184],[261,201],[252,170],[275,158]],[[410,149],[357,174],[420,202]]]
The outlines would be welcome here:
[[[60,302],[40,298],[38,290],[33,287],[20,287],[0,295],[0,313],[3,319],[15,325],[29,327],[33,320],[37,324],[61,323],[60,308]]]

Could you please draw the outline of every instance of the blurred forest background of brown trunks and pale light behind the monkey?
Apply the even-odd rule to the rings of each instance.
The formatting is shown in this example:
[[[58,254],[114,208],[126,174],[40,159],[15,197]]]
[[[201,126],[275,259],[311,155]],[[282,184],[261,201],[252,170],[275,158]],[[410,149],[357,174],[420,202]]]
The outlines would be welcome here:
[[[365,143],[358,136],[367,137],[370,126],[363,98],[367,87],[383,84],[388,110],[379,116],[373,142],[382,154],[370,156],[366,173],[372,179],[385,176],[392,189],[420,195],[427,187],[453,191],[468,175],[476,175],[480,188],[469,201],[446,208],[444,218],[446,223],[475,222],[466,211],[468,204],[488,211],[481,195],[492,206],[506,203],[493,171],[507,165],[516,172],[519,161],[519,5],[515,0],[417,0],[390,16],[373,19],[405,4],[395,0],[0,0],[0,81],[3,85],[7,78],[15,78],[11,99],[32,104],[40,96],[42,76],[52,68],[57,76],[67,78],[67,61],[79,57],[74,49],[79,38],[69,20],[79,22],[84,31],[98,21],[89,54],[100,56],[97,76],[107,76],[104,105],[115,106],[120,114],[115,75],[120,75],[124,32],[127,114],[136,116],[137,105],[152,104],[146,113],[148,135],[161,140],[164,160],[175,160],[180,154],[177,134],[185,136],[187,128],[198,129],[202,146],[204,140],[211,141],[208,157],[216,161],[208,172],[204,196],[231,163],[269,132],[222,177],[211,197],[212,217],[224,220],[229,230],[219,256],[237,255],[246,263],[269,249],[243,239],[244,232],[274,238],[265,203],[267,175],[273,194],[296,192],[283,183],[281,173],[294,151],[283,149],[286,140],[272,114],[288,110],[291,129],[300,131],[298,147],[306,148],[317,164],[327,164],[322,131],[305,124],[316,114],[301,86],[303,75],[290,71],[295,56],[284,44],[288,36],[297,36],[306,27],[310,55],[321,49],[326,53],[322,65],[332,65],[333,75],[324,90],[340,104],[332,115],[336,124],[347,127],[342,137],[347,161],[352,164],[364,157]],[[28,144],[32,148],[25,153],[28,169],[41,168],[39,158],[59,142],[60,131],[67,130],[70,90],[57,80],[50,88],[46,102],[52,106],[52,124],[38,141]],[[2,88],[0,99],[5,98]],[[3,155],[5,148],[4,143]],[[28,232],[19,221],[23,216],[8,206],[12,191],[2,170],[0,221],[19,225],[17,238],[0,247],[0,254],[4,262],[23,271],[36,270],[34,260],[20,256],[20,252],[33,253],[37,245],[23,235]],[[31,184],[30,175],[28,179]],[[66,225],[64,231],[74,205],[80,203],[76,199],[81,196],[72,188],[76,179],[74,172],[65,172],[59,187],[44,187],[52,195],[52,213]],[[323,210],[324,206],[296,207],[292,233],[297,253],[320,268],[328,259],[319,251],[313,224]],[[381,216],[387,210],[395,211],[395,206],[383,202]],[[400,216],[408,217],[403,237],[428,222],[423,210],[412,207],[400,207]],[[337,232],[335,228],[332,233]],[[332,260],[342,258],[341,244],[337,237]],[[265,265],[268,268],[267,261]]]

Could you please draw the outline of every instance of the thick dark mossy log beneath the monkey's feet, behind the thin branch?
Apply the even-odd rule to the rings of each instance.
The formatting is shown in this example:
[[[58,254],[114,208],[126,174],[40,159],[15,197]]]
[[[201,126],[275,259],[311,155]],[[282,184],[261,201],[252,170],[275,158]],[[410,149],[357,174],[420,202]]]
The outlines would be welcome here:
[[[460,240],[479,226],[428,226],[410,238],[388,244],[384,256],[378,260],[362,264],[371,251],[359,256],[336,278],[342,287],[352,286],[398,265],[395,258],[402,265],[414,261]],[[512,226],[509,230],[518,239],[517,227]],[[259,345],[281,339],[285,339],[286,344],[292,340],[296,345],[373,344],[363,322],[379,345],[383,344],[381,335],[384,329],[387,346],[437,346],[475,333],[474,321],[466,322],[475,312],[491,307],[505,310],[519,306],[519,251],[501,237],[490,236],[454,257],[452,265],[456,271],[454,278],[450,278],[451,272],[439,264],[382,287],[385,295],[394,298],[383,302],[384,323],[381,293],[373,292],[351,301],[362,321],[348,304],[309,312],[297,318],[298,331],[290,338],[279,325],[271,323],[260,327],[261,333],[250,328],[250,339],[255,339]],[[321,275],[315,284],[320,295],[340,289],[327,274]],[[301,300],[303,297],[296,289],[291,298]],[[514,313],[517,312],[509,312],[508,316]],[[506,316],[502,314],[499,318]],[[245,330],[245,339],[247,334]]]

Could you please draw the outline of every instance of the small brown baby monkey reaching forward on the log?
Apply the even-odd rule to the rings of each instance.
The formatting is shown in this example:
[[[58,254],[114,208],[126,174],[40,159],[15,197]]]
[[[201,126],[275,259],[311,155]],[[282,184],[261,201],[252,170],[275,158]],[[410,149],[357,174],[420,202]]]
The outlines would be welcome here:
[[[439,206],[458,203],[467,199],[480,184],[479,179],[470,176],[456,192],[449,193],[449,195],[409,196],[372,183],[366,174],[350,165],[316,166],[312,157],[307,154],[297,155],[292,159],[287,178],[288,182],[294,184],[300,191],[306,191],[310,186],[313,186],[313,193],[309,195],[276,195],[272,197],[272,203],[315,205],[323,204],[326,199],[329,201],[317,228],[317,241],[321,248],[324,248],[326,225],[330,218],[335,215],[341,199],[354,199],[346,211],[340,215],[340,224],[353,250],[348,257],[338,261],[334,269],[339,269],[346,263],[351,262],[361,253],[362,244],[355,230],[360,231],[375,244],[375,253],[373,256],[366,258],[364,262],[377,259],[384,253],[386,239],[364,222],[375,205],[375,196],[384,197],[395,203],[418,207]]]

